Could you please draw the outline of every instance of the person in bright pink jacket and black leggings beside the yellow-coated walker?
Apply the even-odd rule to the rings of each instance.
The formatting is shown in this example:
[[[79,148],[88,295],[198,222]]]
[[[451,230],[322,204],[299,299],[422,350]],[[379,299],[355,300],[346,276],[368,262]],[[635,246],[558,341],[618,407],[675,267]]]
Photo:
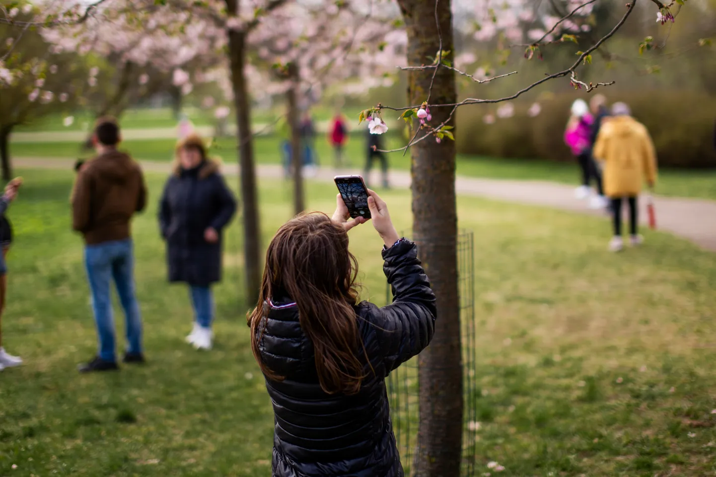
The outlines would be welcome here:
[[[591,155],[590,135],[594,117],[589,114],[589,107],[584,100],[578,99],[572,103],[571,115],[564,130],[564,142],[569,146],[577,158],[581,169],[582,185],[576,188],[574,195],[578,199],[589,198],[590,208],[606,207],[604,191],[601,188],[601,174]],[[591,179],[596,181],[597,195],[591,194]]]

